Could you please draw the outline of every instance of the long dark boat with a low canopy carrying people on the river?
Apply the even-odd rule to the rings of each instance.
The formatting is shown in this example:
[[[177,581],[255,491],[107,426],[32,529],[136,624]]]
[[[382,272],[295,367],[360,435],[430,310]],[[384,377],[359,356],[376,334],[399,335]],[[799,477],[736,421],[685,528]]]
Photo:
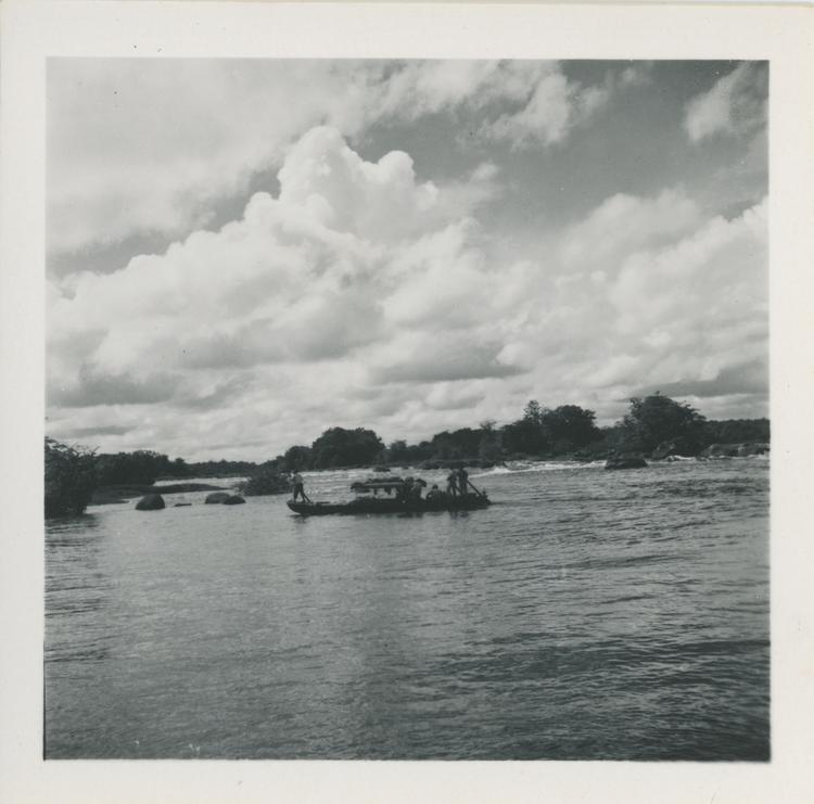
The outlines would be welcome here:
[[[422,480],[412,480],[414,486],[427,486]],[[402,497],[398,492],[404,488],[400,477],[369,478],[357,481],[351,486],[356,498],[347,502],[314,502],[311,500],[288,500],[287,506],[303,516],[323,516],[326,514],[369,514],[369,513],[427,513],[431,511],[475,511],[487,508],[492,500],[485,492],[472,486],[472,492],[465,495],[449,495],[440,492],[428,497]],[[470,484],[471,486],[471,484]],[[379,496],[379,492],[384,492]]]

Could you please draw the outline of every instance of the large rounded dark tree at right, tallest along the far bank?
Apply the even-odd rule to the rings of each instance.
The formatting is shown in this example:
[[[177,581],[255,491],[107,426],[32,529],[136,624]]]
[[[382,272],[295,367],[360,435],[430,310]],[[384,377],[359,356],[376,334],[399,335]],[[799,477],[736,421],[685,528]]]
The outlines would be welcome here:
[[[677,451],[696,455],[703,443],[705,418],[686,403],[659,392],[644,399],[631,399],[631,409],[622,419],[622,438],[626,449],[651,452],[664,442]]]

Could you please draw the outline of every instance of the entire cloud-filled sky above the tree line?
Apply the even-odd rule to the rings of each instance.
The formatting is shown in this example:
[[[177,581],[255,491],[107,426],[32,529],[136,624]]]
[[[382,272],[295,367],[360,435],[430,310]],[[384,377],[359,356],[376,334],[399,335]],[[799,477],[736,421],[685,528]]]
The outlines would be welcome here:
[[[47,431],[768,411],[765,62],[50,59]]]

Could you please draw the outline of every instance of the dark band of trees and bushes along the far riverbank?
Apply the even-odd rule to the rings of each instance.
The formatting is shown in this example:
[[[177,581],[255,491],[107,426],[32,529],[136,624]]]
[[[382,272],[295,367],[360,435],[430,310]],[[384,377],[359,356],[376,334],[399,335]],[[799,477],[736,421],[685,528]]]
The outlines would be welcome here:
[[[386,445],[364,427],[330,427],[310,446],[295,445],[283,455],[257,464],[250,461],[170,460],[150,450],[94,455],[46,439],[46,515],[81,513],[94,488],[105,501],[147,494],[158,478],[245,477],[246,496],[279,494],[291,488],[290,473],[347,467],[418,465],[435,469],[466,463],[488,467],[511,459],[598,460],[609,454],[652,458],[735,454],[712,445],[770,442],[768,419],[707,421],[695,408],[656,393],[631,399],[624,418],[610,427],[598,427],[593,410],[577,405],[543,407],[532,399],[522,416],[500,427],[484,421],[478,427],[436,433],[419,444],[394,441]],[[162,487],[174,490],[215,488],[196,484]],[[169,490],[171,488],[171,490]]]

